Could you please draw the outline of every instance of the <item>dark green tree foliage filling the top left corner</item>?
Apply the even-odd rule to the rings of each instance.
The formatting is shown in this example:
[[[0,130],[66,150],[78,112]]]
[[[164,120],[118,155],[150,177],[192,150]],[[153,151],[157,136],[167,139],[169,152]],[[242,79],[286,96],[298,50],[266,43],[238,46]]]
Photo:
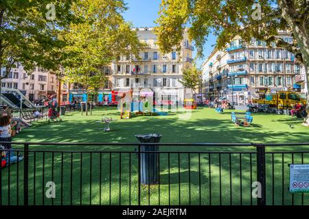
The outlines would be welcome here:
[[[57,69],[63,58],[59,49],[65,42],[58,38],[59,31],[70,23],[77,23],[71,13],[74,0],[8,0],[0,2],[0,67],[8,76],[15,62],[25,70],[34,66]]]

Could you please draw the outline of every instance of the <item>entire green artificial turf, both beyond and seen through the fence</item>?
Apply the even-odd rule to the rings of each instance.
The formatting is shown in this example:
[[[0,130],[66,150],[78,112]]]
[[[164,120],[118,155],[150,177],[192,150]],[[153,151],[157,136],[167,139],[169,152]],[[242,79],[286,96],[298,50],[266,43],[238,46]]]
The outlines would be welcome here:
[[[224,114],[218,114],[214,109],[201,108],[192,112],[170,113],[168,116],[133,116],[130,120],[120,120],[119,112],[113,108],[96,109],[90,116],[71,112],[63,116],[60,123],[46,123],[45,120],[34,123],[16,136],[14,141],[136,143],[135,134],[161,133],[161,142],[309,142],[309,129],[302,126],[301,120],[297,118],[254,114],[251,127],[237,127],[231,122],[230,112],[226,110]],[[102,117],[107,115],[117,119],[111,123],[110,132],[104,132],[104,124],[100,123]],[[17,150],[23,149],[18,145],[13,146]],[[136,153],[126,153],[134,152],[135,148],[136,146],[30,146],[30,205],[137,205],[138,157]],[[42,150],[76,150],[84,153],[34,152]],[[308,146],[266,149],[295,150],[308,151]],[[160,154],[160,184],[141,185],[142,205],[256,203],[255,198],[251,198],[251,183],[256,180],[254,147],[161,146],[160,151],[174,153]],[[179,151],[199,153],[178,154]],[[225,153],[211,153],[218,151]],[[230,155],[230,152],[250,153]],[[309,153],[295,153],[293,157],[290,153],[269,153],[266,154],[266,162],[267,204],[290,205],[294,201],[296,205],[308,205],[308,194],[293,195],[288,192],[288,164],[308,164]],[[1,171],[0,204],[23,204],[23,162]],[[46,198],[47,181],[56,183],[56,198]]]

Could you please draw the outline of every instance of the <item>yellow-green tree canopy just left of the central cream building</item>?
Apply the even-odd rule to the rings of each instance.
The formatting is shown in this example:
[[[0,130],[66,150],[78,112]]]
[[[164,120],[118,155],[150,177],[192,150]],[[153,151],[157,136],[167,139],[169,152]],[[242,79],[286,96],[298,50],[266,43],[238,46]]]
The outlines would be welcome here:
[[[119,55],[135,55],[144,44],[139,41],[130,23],[124,21],[122,0],[78,0],[73,12],[80,13],[82,23],[72,23],[60,34],[67,42],[65,53],[71,54],[63,66],[65,79],[84,86],[98,88],[106,77],[102,70]]]

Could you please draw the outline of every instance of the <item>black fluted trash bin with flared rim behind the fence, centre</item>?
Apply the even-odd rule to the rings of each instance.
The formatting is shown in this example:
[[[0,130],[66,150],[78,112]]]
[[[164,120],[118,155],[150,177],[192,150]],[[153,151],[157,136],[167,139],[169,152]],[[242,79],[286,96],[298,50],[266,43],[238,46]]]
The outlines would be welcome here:
[[[141,143],[159,143],[160,134],[139,134],[135,136]],[[141,145],[141,152],[159,151],[157,145]],[[155,185],[159,183],[159,153],[140,154],[140,176],[144,185]]]

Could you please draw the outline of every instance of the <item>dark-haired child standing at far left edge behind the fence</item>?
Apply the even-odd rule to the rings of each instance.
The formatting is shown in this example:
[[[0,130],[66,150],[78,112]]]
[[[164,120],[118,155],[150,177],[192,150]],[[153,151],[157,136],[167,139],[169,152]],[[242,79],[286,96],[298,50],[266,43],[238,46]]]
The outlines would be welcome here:
[[[10,116],[2,116],[0,118],[0,142],[12,142],[12,127],[16,126],[17,122],[12,123]],[[14,155],[12,146],[10,143],[2,143],[1,148],[5,153],[6,165],[14,164],[16,162],[20,162],[23,157],[17,157]]]

